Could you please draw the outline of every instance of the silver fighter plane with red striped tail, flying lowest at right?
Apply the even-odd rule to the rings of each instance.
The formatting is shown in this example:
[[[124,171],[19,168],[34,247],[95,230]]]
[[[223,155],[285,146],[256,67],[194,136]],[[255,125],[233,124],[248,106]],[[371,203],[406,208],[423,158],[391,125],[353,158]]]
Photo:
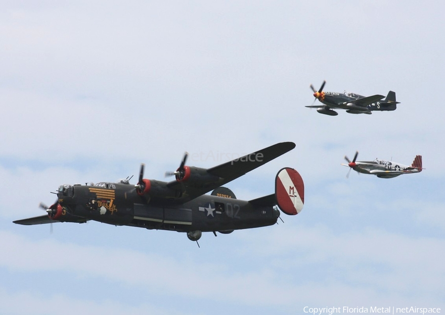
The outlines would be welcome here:
[[[420,173],[422,172],[422,156],[416,155],[414,161],[410,166],[403,165],[401,163],[393,162],[393,161],[385,161],[375,159],[374,161],[356,161],[358,152],[354,156],[354,159],[351,161],[345,155],[345,160],[348,161],[348,164],[342,164],[343,166],[349,166],[349,172],[346,176],[349,177],[349,173],[351,170],[354,170],[358,173],[363,174],[371,174],[376,175],[379,178],[390,179],[393,177],[397,177],[403,174],[412,174],[412,173]]]

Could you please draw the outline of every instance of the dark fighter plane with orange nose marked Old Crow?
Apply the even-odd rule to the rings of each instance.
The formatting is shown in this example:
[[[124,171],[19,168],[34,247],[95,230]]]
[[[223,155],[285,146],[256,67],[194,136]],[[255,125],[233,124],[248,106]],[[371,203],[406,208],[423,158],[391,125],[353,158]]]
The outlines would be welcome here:
[[[385,99],[383,95],[362,96],[356,93],[347,92],[323,92],[326,81],[323,81],[320,89],[317,91],[311,84],[315,100],[319,100],[323,105],[309,105],[305,107],[316,108],[320,114],[337,116],[338,113],[332,109],[346,109],[350,114],[372,114],[372,111],[390,111],[396,110],[396,93],[389,91]]]

